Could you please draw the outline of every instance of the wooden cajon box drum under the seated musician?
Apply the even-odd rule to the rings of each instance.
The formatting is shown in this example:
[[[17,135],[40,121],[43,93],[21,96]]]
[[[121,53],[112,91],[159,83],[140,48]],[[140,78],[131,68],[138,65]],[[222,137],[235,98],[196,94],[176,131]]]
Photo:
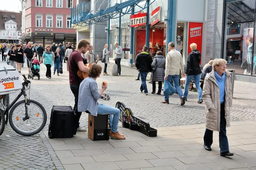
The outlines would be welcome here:
[[[88,114],[88,138],[93,141],[109,140],[109,115]]]

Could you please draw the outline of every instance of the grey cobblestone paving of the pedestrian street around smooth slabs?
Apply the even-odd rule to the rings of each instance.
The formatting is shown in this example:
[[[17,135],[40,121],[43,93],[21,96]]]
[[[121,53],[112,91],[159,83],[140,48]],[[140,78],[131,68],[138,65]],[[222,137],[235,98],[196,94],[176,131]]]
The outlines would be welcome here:
[[[109,74],[111,74],[111,65],[112,63],[108,64]],[[40,102],[47,111],[48,119],[44,130],[48,130],[50,111],[53,105],[74,105],[74,97],[70,91],[65,66],[64,64],[64,74],[52,75],[52,79],[47,79],[44,76],[46,68],[41,65],[41,79],[32,80],[30,98]],[[22,73],[27,73],[25,66]],[[140,93],[141,82],[135,81],[138,74],[136,69],[122,66],[121,74],[118,77],[102,75],[97,79],[99,88],[101,88],[101,82],[108,82],[108,89],[105,93],[111,96],[110,101],[99,100],[99,102],[111,106],[115,106],[118,101],[124,102],[136,116],[147,120],[152,127],[204,123],[205,105],[197,103],[196,91],[189,91],[188,102],[184,106],[180,106],[180,100],[176,94],[170,96],[169,105],[161,104],[163,96],[153,94],[145,96]],[[149,77],[150,74],[148,74],[148,79]],[[152,85],[149,83],[147,85],[150,93]],[[10,94],[11,101],[16,95],[17,93]],[[255,96],[256,84],[235,81],[233,107],[231,108],[232,121],[256,120]],[[81,126],[87,126],[86,113],[82,114],[80,123]],[[43,133],[30,137],[20,136],[8,124],[3,135],[0,136],[0,150],[0,169],[63,169]]]

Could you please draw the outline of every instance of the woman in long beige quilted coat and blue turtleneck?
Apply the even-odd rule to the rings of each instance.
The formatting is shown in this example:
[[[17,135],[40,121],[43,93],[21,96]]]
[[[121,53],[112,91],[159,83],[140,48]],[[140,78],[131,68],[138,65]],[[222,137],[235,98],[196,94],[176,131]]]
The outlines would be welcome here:
[[[233,156],[229,152],[226,127],[230,126],[230,107],[232,92],[230,72],[226,71],[227,61],[214,59],[212,72],[204,79],[203,100],[206,104],[206,130],[204,133],[204,148],[212,150],[213,131],[219,131],[219,146],[221,156]]]

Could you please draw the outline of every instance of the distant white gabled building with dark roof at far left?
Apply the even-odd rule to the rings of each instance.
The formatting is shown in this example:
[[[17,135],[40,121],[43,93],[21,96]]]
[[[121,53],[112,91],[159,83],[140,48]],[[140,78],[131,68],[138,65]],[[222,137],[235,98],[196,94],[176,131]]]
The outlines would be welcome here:
[[[0,42],[20,42],[21,15],[21,12],[0,11]]]

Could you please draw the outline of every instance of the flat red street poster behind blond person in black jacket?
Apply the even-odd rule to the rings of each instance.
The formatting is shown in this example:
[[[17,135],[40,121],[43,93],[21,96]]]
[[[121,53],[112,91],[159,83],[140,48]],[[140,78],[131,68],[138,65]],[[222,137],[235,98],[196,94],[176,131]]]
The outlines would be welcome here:
[[[193,42],[197,44],[198,51],[202,53],[202,41],[203,41],[203,23],[189,23],[188,54],[191,52],[190,44],[192,44]],[[201,61],[199,63],[200,65],[201,65]]]

